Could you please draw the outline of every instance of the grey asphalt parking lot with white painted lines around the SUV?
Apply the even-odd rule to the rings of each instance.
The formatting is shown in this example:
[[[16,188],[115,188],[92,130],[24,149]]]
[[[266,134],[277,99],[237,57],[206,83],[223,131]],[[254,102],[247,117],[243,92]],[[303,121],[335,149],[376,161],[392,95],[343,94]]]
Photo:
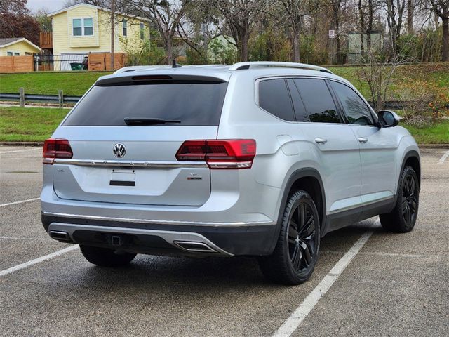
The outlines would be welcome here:
[[[422,150],[413,232],[372,218],[330,233],[309,282],[288,287],[249,258],[138,256],[113,270],[61,251],[40,222],[41,148],[0,147],[0,336],[448,336],[448,150]]]

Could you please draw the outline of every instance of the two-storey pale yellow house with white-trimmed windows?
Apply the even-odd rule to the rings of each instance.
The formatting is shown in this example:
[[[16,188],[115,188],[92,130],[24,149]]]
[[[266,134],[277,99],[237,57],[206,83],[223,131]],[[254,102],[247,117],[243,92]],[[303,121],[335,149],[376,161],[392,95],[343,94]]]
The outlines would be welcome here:
[[[81,62],[88,53],[111,52],[109,9],[76,4],[50,13],[48,17],[53,27],[55,70],[70,70],[70,62]],[[149,41],[148,19],[116,13],[114,23],[115,53],[141,48]]]

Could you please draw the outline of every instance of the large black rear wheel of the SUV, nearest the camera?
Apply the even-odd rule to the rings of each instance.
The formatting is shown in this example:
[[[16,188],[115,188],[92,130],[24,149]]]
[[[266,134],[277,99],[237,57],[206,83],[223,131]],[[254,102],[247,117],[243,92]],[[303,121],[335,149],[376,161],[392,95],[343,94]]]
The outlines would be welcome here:
[[[264,277],[277,284],[305,282],[314,271],[319,245],[320,220],[314,200],[307,192],[297,191],[286,202],[272,255],[259,258],[260,269]]]

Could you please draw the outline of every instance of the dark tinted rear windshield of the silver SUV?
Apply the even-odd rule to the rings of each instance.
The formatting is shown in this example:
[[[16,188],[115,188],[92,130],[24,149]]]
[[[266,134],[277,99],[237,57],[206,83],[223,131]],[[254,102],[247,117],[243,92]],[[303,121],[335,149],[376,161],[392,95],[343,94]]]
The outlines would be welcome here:
[[[147,81],[94,86],[72,110],[64,126],[126,126],[126,117],[218,125],[227,82]]]

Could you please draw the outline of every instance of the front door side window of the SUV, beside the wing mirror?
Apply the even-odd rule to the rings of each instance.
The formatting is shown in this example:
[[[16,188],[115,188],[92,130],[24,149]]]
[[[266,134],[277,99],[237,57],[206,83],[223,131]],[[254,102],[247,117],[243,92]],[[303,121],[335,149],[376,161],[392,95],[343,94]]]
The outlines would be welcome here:
[[[351,124],[373,125],[370,109],[357,93],[344,84],[330,81],[335,94],[343,105],[344,114]]]

